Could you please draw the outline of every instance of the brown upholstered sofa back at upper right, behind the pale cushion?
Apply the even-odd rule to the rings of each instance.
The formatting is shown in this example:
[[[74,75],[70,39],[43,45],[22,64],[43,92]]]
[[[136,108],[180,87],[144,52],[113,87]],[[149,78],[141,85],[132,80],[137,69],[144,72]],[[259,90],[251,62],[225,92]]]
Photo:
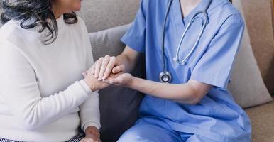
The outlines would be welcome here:
[[[253,53],[266,87],[274,95],[274,38],[270,0],[241,0]]]

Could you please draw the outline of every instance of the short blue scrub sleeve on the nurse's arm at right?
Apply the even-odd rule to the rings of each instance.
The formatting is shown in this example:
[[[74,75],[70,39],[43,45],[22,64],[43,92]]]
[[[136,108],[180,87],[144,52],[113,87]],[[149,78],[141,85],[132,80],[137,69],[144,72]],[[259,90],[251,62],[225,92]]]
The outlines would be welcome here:
[[[226,89],[231,68],[239,51],[244,31],[241,18],[232,15],[226,19],[219,32],[212,39],[209,48],[192,70],[191,79]],[[239,17],[239,16],[237,16]]]

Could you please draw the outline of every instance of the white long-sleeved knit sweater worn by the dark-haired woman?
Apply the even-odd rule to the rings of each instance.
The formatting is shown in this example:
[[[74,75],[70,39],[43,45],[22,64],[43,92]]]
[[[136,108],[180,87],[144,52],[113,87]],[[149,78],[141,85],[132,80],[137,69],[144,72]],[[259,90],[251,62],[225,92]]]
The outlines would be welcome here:
[[[0,29],[0,138],[67,141],[78,127],[100,128],[99,95],[82,80],[92,66],[84,21],[57,19],[54,43],[11,20]]]

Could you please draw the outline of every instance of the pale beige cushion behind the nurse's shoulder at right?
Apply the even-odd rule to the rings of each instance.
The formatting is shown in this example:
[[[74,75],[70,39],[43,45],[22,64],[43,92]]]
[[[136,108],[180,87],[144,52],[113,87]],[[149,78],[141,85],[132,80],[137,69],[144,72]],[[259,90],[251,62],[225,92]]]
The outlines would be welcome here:
[[[242,13],[240,0],[234,0],[234,6]],[[247,29],[243,33],[239,55],[234,63],[229,91],[243,108],[271,101],[270,94],[263,83],[261,72],[253,55]]]

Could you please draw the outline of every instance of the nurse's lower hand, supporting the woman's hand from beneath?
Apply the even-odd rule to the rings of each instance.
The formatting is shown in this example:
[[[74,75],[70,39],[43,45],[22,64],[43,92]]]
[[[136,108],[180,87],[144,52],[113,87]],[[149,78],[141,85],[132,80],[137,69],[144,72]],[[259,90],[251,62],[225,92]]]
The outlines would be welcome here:
[[[108,84],[114,84],[117,86],[124,86],[128,87],[129,84],[131,84],[133,80],[133,76],[129,73],[118,73],[118,74],[111,74],[110,77],[108,77],[106,80],[103,80],[103,82],[106,82]]]

